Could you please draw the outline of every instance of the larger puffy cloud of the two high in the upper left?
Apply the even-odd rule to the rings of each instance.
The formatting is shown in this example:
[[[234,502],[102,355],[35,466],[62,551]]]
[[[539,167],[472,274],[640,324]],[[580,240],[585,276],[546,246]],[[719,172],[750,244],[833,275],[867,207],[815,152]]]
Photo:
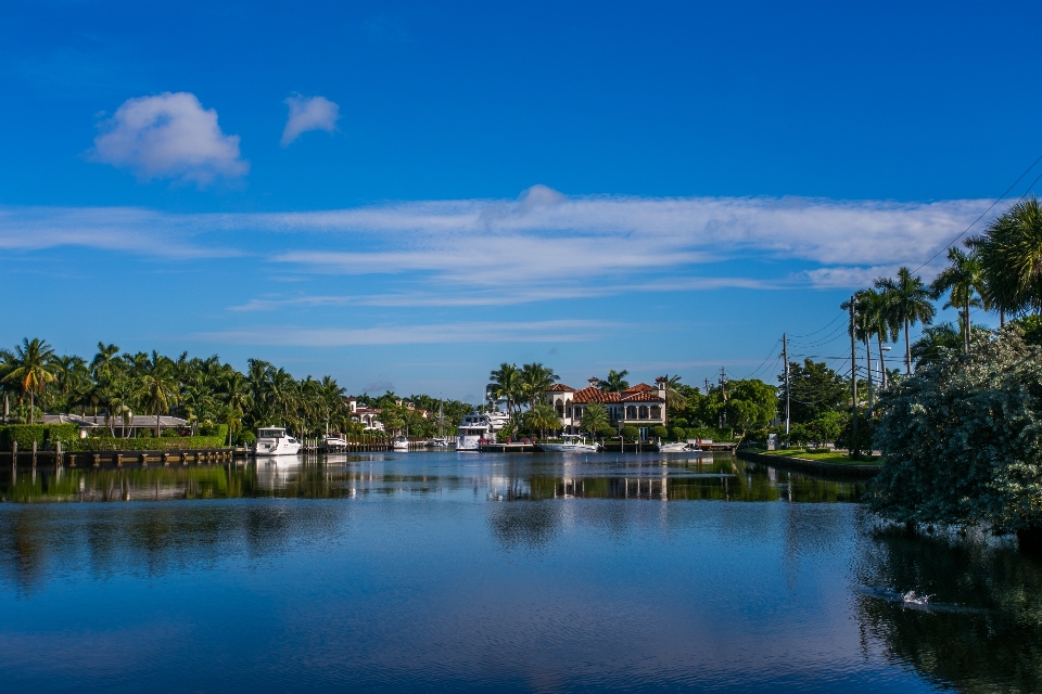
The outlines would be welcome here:
[[[100,127],[90,159],[130,169],[140,179],[206,185],[217,177],[250,171],[239,153],[239,136],[221,132],[217,112],[204,110],[188,92],[128,99]]]

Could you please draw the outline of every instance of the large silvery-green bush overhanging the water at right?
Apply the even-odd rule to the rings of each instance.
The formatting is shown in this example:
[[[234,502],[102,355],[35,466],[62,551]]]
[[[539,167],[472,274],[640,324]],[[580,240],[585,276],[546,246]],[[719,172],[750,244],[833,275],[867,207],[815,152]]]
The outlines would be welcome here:
[[[901,381],[880,409],[874,510],[996,532],[1042,527],[1042,347],[1016,326]]]

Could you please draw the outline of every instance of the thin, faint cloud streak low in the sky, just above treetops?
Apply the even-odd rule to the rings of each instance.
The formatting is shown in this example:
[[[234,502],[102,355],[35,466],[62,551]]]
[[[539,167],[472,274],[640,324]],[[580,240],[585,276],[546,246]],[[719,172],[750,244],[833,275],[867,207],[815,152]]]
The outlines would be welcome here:
[[[430,345],[475,343],[579,343],[600,339],[618,323],[588,320],[531,322],[457,322],[436,325],[305,329],[268,325],[264,329],[196,333],[195,339],[234,345],[343,347],[348,345]]]

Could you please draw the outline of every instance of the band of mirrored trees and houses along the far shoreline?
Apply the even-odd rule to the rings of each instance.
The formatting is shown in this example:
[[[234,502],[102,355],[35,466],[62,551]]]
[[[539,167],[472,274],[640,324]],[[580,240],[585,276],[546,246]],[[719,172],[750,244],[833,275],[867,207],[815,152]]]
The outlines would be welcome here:
[[[814,479],[732,457],[368,454],[225,465],[21,470],[0,479],[0,500],[162,501],[484,491],[490,501],[632,499],[856,501],[860,483]]]

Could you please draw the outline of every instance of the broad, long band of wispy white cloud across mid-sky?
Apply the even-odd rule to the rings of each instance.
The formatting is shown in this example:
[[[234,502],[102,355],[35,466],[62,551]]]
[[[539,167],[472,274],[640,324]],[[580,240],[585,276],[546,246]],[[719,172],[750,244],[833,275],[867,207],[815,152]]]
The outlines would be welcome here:
[[[622,291],[863,285],[900,265],[917,266],[987,205],[566,196],[537,185],[513,201],[305,213],[8,207],[0,208],[0,247],[87,245],[163,256],[226,254],[238,247],[256,254],[258,264],[294,274],[390,275],[390,284],[373,292],[363,287],[364,297],[338,301],[500,305]],[[258,250],[272,248],[266,256]],[[730,275],[750,261],[748,277],[716,277],[720,266],[713,264],[726,260],[734,261],[726,270]],[[776,262],[776,272],[785,272],[791,261],[801,267],[780,278],[764,278],[763,266],[754,265]],[[325,300],[330,299],[259,297],[238,308]]]

